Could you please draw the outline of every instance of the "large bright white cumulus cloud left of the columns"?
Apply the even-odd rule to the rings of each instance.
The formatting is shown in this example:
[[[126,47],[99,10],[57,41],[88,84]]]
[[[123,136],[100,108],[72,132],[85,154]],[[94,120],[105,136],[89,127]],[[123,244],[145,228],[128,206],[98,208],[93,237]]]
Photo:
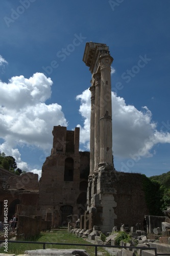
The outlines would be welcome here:
[[[15,76],[8,83],[0,81],[0,151],[15,157],[17,167],[26,171],[29,166],[21,160],[17,146],[35,146],[49,152],[53,126],[67,126],[61,105],[45,103],[51,97],[52,84],[42,73],[30,78]]]

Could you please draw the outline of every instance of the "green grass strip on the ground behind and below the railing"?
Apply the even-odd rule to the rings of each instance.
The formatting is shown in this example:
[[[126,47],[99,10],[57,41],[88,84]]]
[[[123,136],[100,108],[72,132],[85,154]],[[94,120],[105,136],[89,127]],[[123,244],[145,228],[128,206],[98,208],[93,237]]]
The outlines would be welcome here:
[[[33,241],[32,241],[33,242]],[[52,243],[73,243],[73,244],[91,244],[82,238],[78,238],[74,234],[70,234],[65,230],[57,230],[54,232],[41,232],[40,236],[34,242],[52,242]],[[95,255],[95,247],[91,246],[67,246],[67,245],[45,245],[45,248],[53,249],[85,249],[90,256]],[[8,253],[23,254],[26,250],[43,249],[42,244],[22,244],[8,243]],[[98,247],[99,252],[103,252],[103,256],[110,254],[103,248]],[[5,253],[4,248],[0,248],[0,253]]]

